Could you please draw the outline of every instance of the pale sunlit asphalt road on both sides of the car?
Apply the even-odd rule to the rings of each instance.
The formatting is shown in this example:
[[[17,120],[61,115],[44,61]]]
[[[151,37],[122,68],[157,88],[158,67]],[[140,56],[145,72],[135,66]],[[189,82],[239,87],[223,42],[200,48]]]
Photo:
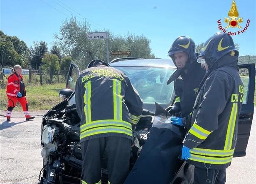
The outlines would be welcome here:
[[[246,156],[233,158],[226,184],[256,181],[256,108]],[[31,112],[43,115],[44,111]],[[0,111],[1,115],[5,112]],[[40,154],[41,117],[26,122],[22,112],[14,112],[12,122],[0,116],[0,184],[36,184],[42,168]]]

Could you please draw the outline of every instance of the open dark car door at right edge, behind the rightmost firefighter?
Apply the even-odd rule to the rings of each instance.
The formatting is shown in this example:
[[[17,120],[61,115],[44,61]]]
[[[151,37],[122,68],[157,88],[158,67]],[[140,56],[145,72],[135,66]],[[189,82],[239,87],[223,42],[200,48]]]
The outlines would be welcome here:
[[[254,116],[255,65],[239,65],[239,68],[239,74],[244,83],[244,100],[239,116],[238,137],[234,157],[246,155],[246,147]]]

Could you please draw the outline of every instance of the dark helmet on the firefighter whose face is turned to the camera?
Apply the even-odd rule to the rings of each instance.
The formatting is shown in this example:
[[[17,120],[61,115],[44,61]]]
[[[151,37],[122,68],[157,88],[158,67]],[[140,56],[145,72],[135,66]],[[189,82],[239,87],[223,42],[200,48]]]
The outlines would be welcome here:
[[[172,46],[168,52],[168,55],[172,58],[172,61],[174,62],[175,66],[175,58],[174,54],[177,52],[185,52],[188,56],[188,61],[192,62],[196,60],[197,54],[196,54],[196,45],[194,41],[187,36],[180,36],[177,38],[173,43]]]

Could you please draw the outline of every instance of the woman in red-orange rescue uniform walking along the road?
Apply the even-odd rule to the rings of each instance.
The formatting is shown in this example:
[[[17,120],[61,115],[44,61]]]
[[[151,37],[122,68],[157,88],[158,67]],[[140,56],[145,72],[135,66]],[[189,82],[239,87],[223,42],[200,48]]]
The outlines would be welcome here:
[[[6,111],[6,121],[11,121],[12,110],[15,108],[17,102],[22,106],[26,120],[34,119],[34,116],[30,116],[28,111],[28,104],[26,99],[26,89],[22,77],[22,68],[20,65],[15,65],[11,69],[11,74],[8,77],[6,95],[8,98],[8,106]]]

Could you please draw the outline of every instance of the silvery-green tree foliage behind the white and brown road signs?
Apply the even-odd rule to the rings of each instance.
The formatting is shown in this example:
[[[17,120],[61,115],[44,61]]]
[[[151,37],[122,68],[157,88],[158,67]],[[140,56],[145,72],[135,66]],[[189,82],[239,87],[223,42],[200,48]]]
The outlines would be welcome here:
[[[106,41],[89,40],[88,32],[106,32],[106,30],[91,30],[86,21],[78,22],[75,17],[62,22],[59,34],[55,34],[55,44],[63,51],[64,55],[70,55],[81,69],[84,69],[91,60],[100,59],[106,61]],[[151,53],[150,41],[145,36],[135,36],[128,33],[126,36],[108,36],[109,52],[118,50],[130,50],[130,57],[155,58]],[[127,57],[127,55],[111,56]]]

